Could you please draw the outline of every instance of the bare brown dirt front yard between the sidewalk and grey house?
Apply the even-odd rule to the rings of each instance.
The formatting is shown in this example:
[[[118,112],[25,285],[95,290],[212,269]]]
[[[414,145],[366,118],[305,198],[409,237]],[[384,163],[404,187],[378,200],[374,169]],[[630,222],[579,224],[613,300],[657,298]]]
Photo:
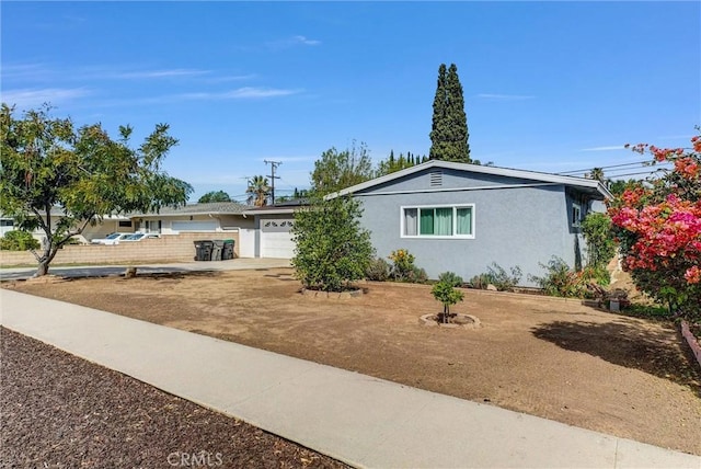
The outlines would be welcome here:
[[[480,329],[425,327],[429,286],[363,286],[304,296],[288,268],[4,285],[701,455],[701,370],[670,323],[466,290],[453,311]]]

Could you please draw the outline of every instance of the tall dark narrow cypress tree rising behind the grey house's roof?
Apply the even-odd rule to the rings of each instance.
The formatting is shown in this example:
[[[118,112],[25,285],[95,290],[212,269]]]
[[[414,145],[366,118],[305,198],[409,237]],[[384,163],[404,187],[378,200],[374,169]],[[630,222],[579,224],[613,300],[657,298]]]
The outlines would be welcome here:
[[[464,113],[462,85],[455,64],[446,70],[446,65],[438,68],[438,83],[434,98],[434,116],[430,130],[432,160],[470,163],[470,146],[468,144],[468,117]]]

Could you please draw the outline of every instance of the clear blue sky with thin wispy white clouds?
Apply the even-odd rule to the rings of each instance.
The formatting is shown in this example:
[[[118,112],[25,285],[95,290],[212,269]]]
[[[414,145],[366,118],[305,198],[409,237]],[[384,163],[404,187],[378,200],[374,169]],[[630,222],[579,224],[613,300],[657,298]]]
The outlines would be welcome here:
[[[1,26],[3,102],[129,124],[135,146],[170,124],[191,201],[241,196],[264,160],[278,195],[307,187],[354,139],[427,155],[441,62],[472,157],[498,167],[635,162],[624,144],[688,146],[701,124],[699,2],[4,1]]]

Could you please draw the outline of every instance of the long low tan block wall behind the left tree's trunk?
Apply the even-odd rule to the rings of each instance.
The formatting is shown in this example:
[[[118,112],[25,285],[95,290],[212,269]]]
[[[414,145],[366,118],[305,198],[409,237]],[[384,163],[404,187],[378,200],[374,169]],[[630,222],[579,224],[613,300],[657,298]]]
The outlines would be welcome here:
[[[51,264],[113,264],[134,262],[187,262],[195,259],[196,240],[233,239],[234,258],[239,256],[238,232],[186,232],[163,234],[159,239],[145,239],[116,245],[67,245],[59,250]],[[0,251],[0,265],[36,264],[31,252]]]

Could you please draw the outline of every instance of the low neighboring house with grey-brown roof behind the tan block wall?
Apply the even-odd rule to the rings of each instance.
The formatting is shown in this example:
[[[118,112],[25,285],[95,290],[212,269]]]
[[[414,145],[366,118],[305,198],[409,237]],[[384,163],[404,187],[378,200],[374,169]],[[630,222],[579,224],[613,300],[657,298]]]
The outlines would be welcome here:
[[[222,239],[238,232],[240,258],[254,256],[254,221],[245,214],[251,206],[235,202],[189,204],[184,207],[163,207],[150,214],[133,214],[137,231],[160,234],[202,232],[203,239]],[[205,236],[211,233],[210,236]]]

